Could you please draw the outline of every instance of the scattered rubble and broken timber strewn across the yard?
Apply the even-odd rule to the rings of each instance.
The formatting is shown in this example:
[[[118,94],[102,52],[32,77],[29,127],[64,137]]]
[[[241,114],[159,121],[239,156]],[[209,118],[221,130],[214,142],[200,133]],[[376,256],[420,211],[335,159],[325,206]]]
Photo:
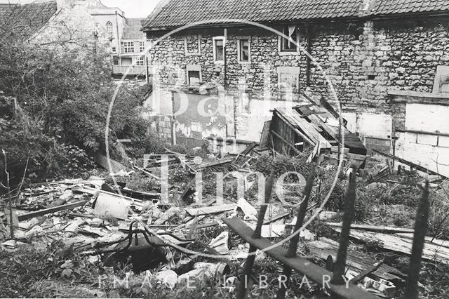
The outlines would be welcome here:
[[[135,173],[129,173],[126,168],[113,173],[116,180],[123,179],[123,182],[117,184],[107,178],[91,178],[32,185],[22,191],[20,202],[13,210],[13,215],[17,215],[13,220],[15,240],[8,240],[9,212],[3,213],[6,222],[0,222],[0,240],[3,240],[1,248],[14,251],[20,246],[43,246],[48,237],[59,239],[66,246],[73,246],[76,253],[91,256],[91,263],[97,263],[100,258],[105,267],[113,267],[114,271],[124,269],[127,263],[132,265],[135,273],[153,271],[156,281],[170,289],[177,288],[187,279],[203,281],[223,277],[230,273],[229,265],[242,263],[243,259],[248,258],[247,241],[252,239],[250,232],[256,228],[262,207],[255,192],[257,178],[246,179],[244,197],[237,197],[238,176],[229,175],[225,180],[227,191],[219,197],[208,189],[208,180],[211,179],[204,175],[201,186],[203,200],[199,201],[196,190],[199,186],[192,174],[217,169],[226,173],[258,171],[253,168],[260,157],[258,150],[260,147],[251,144],[239,155],[222,159],[208,158],[201,163],[194,163],[192,157],[180,157],[177,154],[170,154],[170,158],[165,160],[160,155],[154,155],[147,157],[145,165],[134,166]],[[187,173],[180,175],[180,180],[170,181],[168,201],[162,201],[161,174],[157,168],[157,165],[164,163],[170,164],[175,171]],[[307,168],[304,166],[302,169]],[[326,166],[322,169],[329,171],[332,168]],[[151,190],[127,187],[126,182],[133,180],[135,175],[143,175],[145,180],[151,181],[156,187]],[[360,176],[359,182],[366,184],[360,192],[376,192],[378,188],[389,188],[390,184],[401,185],[400,178],[391,178],[392,175],[388,167],[383,167],[364,181]],[[307,172],[304,171],[302,176],[306,177]],[[303,179],[298,180],[303,187]],[[290,182],[286,182],[286,186]],[[314,196],[307,208],[307,218],[311,213],[319,211],[315,225],[340,232],[342,223],[338,221],[342,211],[326,211],[326,208],[316,210],[320,204],[321,188],[325,189],[326,183],[317,178],[313,183]],[[298,198],[295,192],[289,194],[294,195],[293,199]],[[260,226],[260,246],[267,247],[272,241],[287,237],[292,232],[297,221],[293,215],[297,202],[291,199],[283,201],[277,195],[272,197]],[[353,223],[349,236],[362,244],[369,241],[380,250],[408,255],[413,232],[410,227],[387,223]],[[239,241],[234,233],[243,239]],[[316,227],[314,230],[310,227],[309,230],[303,229],[300,232],[298,254],[304,256],[304,263],[333,261],[338,243],[330,237],[333,236],[323,237]],[[448,242],[427,237],[422,258],[448,264]],[[192,251],[220,258],[210,260],[194,255]],[[268,254],[276,259],[285,255],[281,248]],[[260,255],[264,256],[264,253]],[[285,261],[283,258],[281,260]],[[354,279],[353,284],[384,298],[392,298],[406,277],[394,266],[387,265],[385,260],[375,260],[358,251],[356,246],[348,249],[347,264],[350,265],[345,274],[347,279]],[[333,267],[333,263],[329,267]],[[227,279],[234,281],[239,278]],[[233,290],[234,286],[230,286],[229,291]]]

